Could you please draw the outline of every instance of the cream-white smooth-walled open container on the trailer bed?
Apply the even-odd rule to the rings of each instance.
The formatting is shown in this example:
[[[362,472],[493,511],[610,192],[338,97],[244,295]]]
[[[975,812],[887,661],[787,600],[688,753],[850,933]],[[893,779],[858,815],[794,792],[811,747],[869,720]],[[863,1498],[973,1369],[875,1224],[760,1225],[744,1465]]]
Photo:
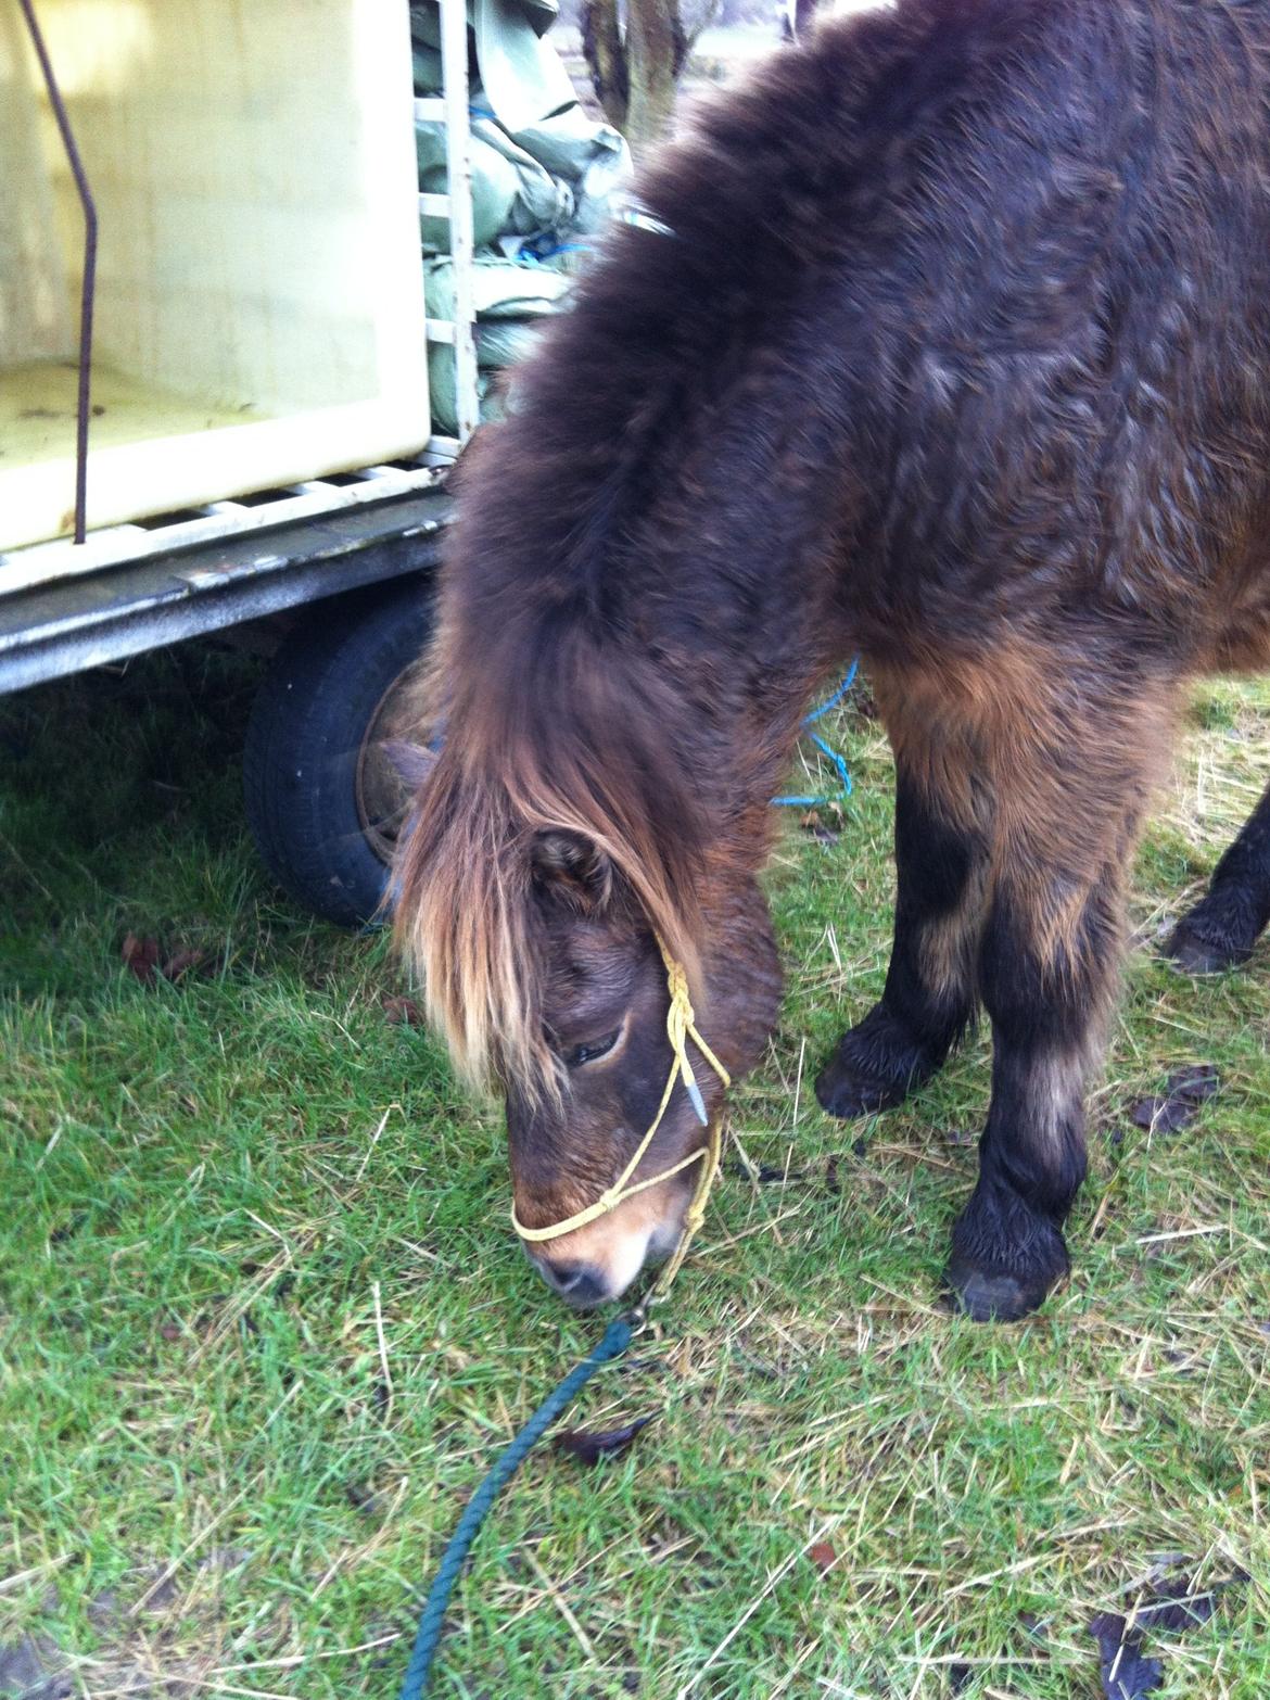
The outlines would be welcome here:
[[[418,452],[430,422],[406,5],[39,0],[39,17],[100,211],[90,527]],[[12,3],[0,184],[3,551],[70,525],[82,253]],[[58,571],[92,558],[58,554]],[[0,593],[12,575],[9,561]]]

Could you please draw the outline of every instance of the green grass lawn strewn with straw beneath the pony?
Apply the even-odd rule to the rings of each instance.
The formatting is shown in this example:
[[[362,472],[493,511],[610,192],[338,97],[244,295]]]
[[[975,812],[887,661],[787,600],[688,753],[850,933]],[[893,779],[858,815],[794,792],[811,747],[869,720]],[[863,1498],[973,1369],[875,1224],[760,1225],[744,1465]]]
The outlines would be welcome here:
[[[491,1452],[600,1331],[513,1243],[498,1117],[386,1018],[383,940],[257,864],[253,675],[190,648],[0,704],[3,1693],[391,1700]],[[1137,865],[1074,1275],[1018,1328],[937,1304],[984,1039],[884,1119],[809,1090],[889,937],[886,741],[853,709],[833,736],[855,796],[835,843],[785,823],[787,1001],[740,1153],[663,1326],[571,1418],[656,1421],[598,1469],[530,1459],[435,1692],[1093,1700],[1095,1613],[1244,1571],[1144,1651],[1161,1697],[1263,1697],[1270,947],[1192,984],[1151,944],[1270,772],[1270,688],[1197,700]],[[143,984],[129,932],[202,971]],[[1199,1119],[1134,1125],[1193,1062],[1221,1071]]]

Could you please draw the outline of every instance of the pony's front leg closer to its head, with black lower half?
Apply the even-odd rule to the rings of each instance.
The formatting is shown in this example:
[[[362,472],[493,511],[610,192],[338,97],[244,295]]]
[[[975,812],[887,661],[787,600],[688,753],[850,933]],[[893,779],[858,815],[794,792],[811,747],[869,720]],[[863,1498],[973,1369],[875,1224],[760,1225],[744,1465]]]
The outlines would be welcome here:
[[[816,1080],[830,1115],[899,1103],[944,1062],[974,1017],[988,874],[988,801],[971,745],[874,678],[896,755],[896,921],[882,998],[838,1040]]]

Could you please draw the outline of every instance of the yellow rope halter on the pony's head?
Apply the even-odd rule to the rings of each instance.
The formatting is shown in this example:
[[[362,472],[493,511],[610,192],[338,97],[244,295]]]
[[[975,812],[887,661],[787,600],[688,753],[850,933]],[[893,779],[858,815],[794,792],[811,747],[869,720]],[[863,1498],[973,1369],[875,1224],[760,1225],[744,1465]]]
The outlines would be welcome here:
[[[553,1222],[549,1227],[525,1227],[520,1221],[517,1221],[515,1205],[512,1205],[512,1227],[515,1227],[517,1234],[520,1234],[520,1238],[529,1241],[530,1244],[537,1244],[544,1239],[559,1239],[561,1234],[571,1234],[575,1227],[587,1227],[588,1222],[595,1222],[598,1221],[598,1217],[607,1216],[610,1210],[615,1210],[619,1204],[624,1204],[627,1198],[634,1198],[636,1193],[646,1192],[649,1187],[656,1187],[660,1185],[660,1182],[670,1180],[672,1175],[678,1175],[680,1170],[689,1168],[690,1163],[704,1159],[700,1166],[700,1175],[697,1176],[697,1187],[692,1193],[692,1204],[689,1205],[689,1212],[683,1217],[683,1232],[678,1238],[678,1244],[675,1246],[670,1261],[658,1277],[658,1287],[665,1292],[665,1289],[672,1284],[672,1280],[678,1273],[678,1266],[687,1256],[692,1236],[697,1232],[706,1217],[706,1200],[711,1195],[714,1176],[719,1173],[719,1156],[723,1153],[721,1117],[716,1117],[711,1122],[709,1115],[706,1114],[706,1102],[700,1095],[697,1076],[692,1071],[692,1062],[689,1061],[689,1039],[694,1042],[697,1051],[700,1051],[700,1054],[706,1057],[706,1061],[719,1076],[724,1086],[731,1086],[731,1074],[723,1066],[723,1062],[719,1062],[716,1054],[711,1051],[711,1047],[697,1032],[697,1022],[692,1013],[692,1000],[689,998],[689,978],[683,972],[683,967],[666,954],[666,947],[661,944],[660,938],[658,938],[658,949],[661,950],[661,960],[666,964],[666,984],[670,988],[670,1008],[666,1010],[666,1039],[670,1040],[670,1049],[673,1056],[670,1062],[670,1074],[666,1076],[666,1090],[661,1093],[661,1103],[658,1105],[658,1112],[653,1117],[653,1125],[648,1129],[644,1137],[636,1146],[634,1154],[631,1156],[631,1161],[626,1164],[622,1173],[617,1176],[612,1187],[605,1187],[605,1190],[600,1193],[595,1204],[588,1204],[575,1216],[568,1216],[563,1222]],[[675,1091],[677,1080],[683,1081],[683,1088],[689,1098],[692,1100],[692,1108],[697,1112],[702,1127],[707,1129],[706,1144],[699,1146],[697,1151],[690,1153],[687,1158],[680,1158],[678,1163],[672,1163],[670,1168],[665,1168],[656,1175],[649,1175],[648,1180],[632,1182],[631,1176],[639,1168],[639,1163],[643,1161],[648,1148],[653,1144],[658,1127],[661,1127],[661,1119],[666,1114],[666,1107],[670,1103],[672,1093]]]

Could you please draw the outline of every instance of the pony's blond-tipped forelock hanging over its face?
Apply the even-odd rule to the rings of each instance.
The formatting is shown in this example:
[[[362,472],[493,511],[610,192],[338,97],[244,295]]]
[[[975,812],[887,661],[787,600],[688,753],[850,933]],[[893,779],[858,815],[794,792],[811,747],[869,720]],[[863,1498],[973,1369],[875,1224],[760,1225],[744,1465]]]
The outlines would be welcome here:
[[[432,700],[445,704],[447,738],[398,857],[396,940],[469,1085],[554,1096],[537,1005],[537,835],[595,845],[695,979],[700,811],[661,712],[672,704],[585,634],[539,629],[529,646],[496,634],[479,675],[449,670],[456,648],[442,636]]]

